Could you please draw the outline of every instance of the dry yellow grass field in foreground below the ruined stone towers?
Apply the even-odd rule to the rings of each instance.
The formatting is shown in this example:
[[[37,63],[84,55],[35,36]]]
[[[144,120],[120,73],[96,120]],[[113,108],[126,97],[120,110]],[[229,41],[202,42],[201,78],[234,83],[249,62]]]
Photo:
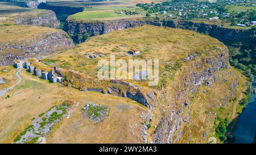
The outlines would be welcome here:
[[[58,83],[49,83],[25,70],[20,76],[23,77],[23,81],[9,92],[10,98],[0,98],[0,143],[13,143],[14,138],[30,124],[32,118],[47,111],[56,100],[62,99],[75,100],[81,104],[71,118],[63,120],[61,128],[53,129],[55,132],[49,140],[47,137],[48,143],[58,143],[57,140],[60,140],[59,143],[125,143],[124,136],[127,135],[130,136],[127,141],[138,143],[137,136],[131,134],[130,125],[143,122],[139,115],[146,112],[146,108],[137,102],[112,95],[83,93]],[[110,114],[104,122],[93,124],[82,118],[81,108],[87,102],[110,107]],[[118,105],[127,109],[119,109]]]

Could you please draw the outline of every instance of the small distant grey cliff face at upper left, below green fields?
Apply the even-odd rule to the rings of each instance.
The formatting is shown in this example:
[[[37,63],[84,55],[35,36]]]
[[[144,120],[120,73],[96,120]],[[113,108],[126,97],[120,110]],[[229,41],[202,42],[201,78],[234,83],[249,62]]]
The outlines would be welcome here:
[[[60,21],[57,19],[55,12],[51,10],[40,11],[35,15],[17,15],[15,17],[15,23],[20,25],[32,25],[32,26],[44,26],[57,28],[60,25]]]

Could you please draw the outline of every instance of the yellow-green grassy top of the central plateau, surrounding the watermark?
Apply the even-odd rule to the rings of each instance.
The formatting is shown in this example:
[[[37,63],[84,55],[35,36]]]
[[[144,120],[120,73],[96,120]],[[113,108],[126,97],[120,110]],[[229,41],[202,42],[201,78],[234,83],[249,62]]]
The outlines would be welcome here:
[[[121,49],[123,52],[116,48],[121,44],[126,44],[126,47]],[[107,60],[109,60],[111,53],[117,58],[122,57],[126,60],[130,56],[123,55],[133,47],[141,51],[141,55],[136,58],[159,59],[161,73],[167,62],[182,62],[183,58],[196,52],[207,57],[210,53],[217,52],[209,49],[215,47],[222,49],[225,48],[225,45],[207,35],[192,31],[143,26],[91,37],[86,43],[50,59],[55,60],[55,64],[61,68],[75,70],[86,75],[86,78],[96,78],[99,59],[90,60],[84,56],[86,53],[102,53],[107,55],[104,57]],[[89,86],[91,83],[83,83],[80,86],[86,85]],[[147,83],[141,83],[141,85],[147,85]]]

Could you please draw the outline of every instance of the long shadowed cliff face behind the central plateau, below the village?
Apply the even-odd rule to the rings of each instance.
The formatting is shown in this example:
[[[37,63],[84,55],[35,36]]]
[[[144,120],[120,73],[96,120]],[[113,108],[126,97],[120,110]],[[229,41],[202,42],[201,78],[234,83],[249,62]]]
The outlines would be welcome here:
[[[102,35],[116,30],[123,30],[130,27],[138,27],[143,25],[167,26],[173,28],[183,28],[200,33],[207,33],[225,44],[248,44],[253,45],[256,42],[256,31],[251,30],[235,30],[231,28],[220,27],[217,25],[205,23],[193,23],[186,20],[161,20],[156,21],[146,18],[135,19],[119,19],[119,20],[75,20],[67,19],[64,30],[72,36],[72,39],[77,43],[84,41],[84,33],[89,36]]]

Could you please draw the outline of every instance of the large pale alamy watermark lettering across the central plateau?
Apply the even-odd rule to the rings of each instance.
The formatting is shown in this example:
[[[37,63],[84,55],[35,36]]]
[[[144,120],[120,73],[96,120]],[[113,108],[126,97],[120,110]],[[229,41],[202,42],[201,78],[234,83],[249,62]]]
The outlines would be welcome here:
[[[98,67],[97,76],[100,80],[145,80],[148,86],[156,86],[159,82],[159,60],[115,60],[115,56],[110,55],[110,61],[101,59]]]

